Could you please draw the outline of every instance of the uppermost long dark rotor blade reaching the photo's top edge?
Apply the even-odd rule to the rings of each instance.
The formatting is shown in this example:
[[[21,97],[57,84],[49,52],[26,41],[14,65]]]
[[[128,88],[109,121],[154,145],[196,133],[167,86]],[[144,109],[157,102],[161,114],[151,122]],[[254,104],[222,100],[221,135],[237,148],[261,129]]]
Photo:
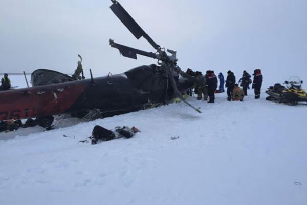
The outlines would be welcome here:
[[[113,13],[120,19],[120,21],[127,27],[127,29],[137,38],[144,37],[156,50],[160,48],[150,36],[138,25],[138,23],[130,16],[130,14],[120,5],[116,0],[111,0],[113,4],[110,6]]]

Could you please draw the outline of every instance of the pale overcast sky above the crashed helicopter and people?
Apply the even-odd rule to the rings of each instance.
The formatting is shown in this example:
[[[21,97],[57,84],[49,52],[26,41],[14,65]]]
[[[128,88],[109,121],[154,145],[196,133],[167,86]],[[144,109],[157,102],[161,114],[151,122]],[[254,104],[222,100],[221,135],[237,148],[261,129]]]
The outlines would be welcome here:
[[[305,0],[121,0],[121,5],[158,44],[177,50],[183,70],[261,68],[265,79],[299,75],[307,82]],[[108,39],[146,51],[109,9],[108,0],[1,0],[0,73],[39,68],[73,73],[77,54],[88,76],[121,73],[155,63],[124,58]],[[266,78],[267,77],[267,78]]]

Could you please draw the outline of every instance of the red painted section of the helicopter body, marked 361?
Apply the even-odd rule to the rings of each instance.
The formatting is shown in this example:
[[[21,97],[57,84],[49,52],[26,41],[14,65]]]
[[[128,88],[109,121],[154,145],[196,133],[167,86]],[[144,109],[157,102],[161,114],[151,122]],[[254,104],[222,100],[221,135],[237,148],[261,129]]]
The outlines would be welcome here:
[[[63,114],[84,91],[86,81],[2,91],[0,121]]]

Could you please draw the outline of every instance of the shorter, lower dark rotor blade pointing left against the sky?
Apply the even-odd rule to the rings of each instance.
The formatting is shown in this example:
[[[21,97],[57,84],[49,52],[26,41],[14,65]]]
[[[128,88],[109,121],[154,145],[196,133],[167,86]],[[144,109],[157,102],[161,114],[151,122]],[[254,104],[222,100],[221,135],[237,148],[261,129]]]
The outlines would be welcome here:
[[[142,50],[139,50],[139,49],[124,46],[124,45],[121,45],[121,44],[117,44],[117,43],[114,43],[114,41],[111,40],[111,39],[110,39],[110,46],[113,47],[113,48],[117,48],[123,56],[128,57],[128,58],[137,59],[137,54],[139,54],[139,55],[151,57],[151,58],[154,58],[154,59],[160,59],[159,55],[156,55],[155,53],[146,52],[146,51],[142,51]]]

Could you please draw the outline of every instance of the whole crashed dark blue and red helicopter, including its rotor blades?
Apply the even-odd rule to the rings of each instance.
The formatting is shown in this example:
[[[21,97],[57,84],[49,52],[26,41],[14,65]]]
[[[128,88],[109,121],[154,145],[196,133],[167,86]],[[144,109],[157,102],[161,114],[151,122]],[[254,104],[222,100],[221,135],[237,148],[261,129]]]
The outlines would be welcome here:
[[[124,57],[137,59],[138,54],[157,59],[157,65],[97,78],[93,78],[90,70],[91,78],[84,79],[79,56],[81,61],[72,77],[52,70],[36,70],[31,75],[31,88],[0,92],[0,121],[36,118],[40,120],[39,125],[50,128],[53,115],[71,113],[77,117],[103,118],[167,104],[177,97],[201,113],[183,98],[183,93],[194,83],[203,82],[183,72],[177,65],[176,51],[161,48],[118,1],[111,1],[111,10],[126,28],[137,39],[143,36],[156,52],[127,47],[110,39],[111,47],[117,48]]]

